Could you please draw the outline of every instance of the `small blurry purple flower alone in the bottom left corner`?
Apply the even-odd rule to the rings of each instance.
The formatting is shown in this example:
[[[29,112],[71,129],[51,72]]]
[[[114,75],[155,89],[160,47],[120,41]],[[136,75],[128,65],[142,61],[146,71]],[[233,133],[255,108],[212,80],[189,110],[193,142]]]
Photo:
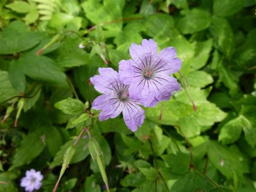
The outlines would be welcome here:
[[[26,177],[20,180],[20,186],[25,188],[25,191],[33,191],[34,189],[40,189],[42,185],[43,175],[41,172],[36,172],[34,169],[26,171]]]

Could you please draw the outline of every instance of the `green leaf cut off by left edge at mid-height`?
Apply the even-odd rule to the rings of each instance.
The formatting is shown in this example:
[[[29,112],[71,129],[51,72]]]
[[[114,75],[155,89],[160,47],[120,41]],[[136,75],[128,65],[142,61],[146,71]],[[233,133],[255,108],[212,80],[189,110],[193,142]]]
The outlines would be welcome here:
[[[0,102],[17,95],[9,80],[8,72],[0,70]]]

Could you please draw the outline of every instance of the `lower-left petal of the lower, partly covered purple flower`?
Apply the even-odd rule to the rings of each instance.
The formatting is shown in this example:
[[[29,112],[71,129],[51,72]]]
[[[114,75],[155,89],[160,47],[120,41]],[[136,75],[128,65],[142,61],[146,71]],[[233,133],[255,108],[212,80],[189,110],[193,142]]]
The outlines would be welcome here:
[[[116,118],[124,109],[124,104],[120,100],[116,100],[109,106],[106,106],[99,115],[99,120],[107,120],[108,118]]]

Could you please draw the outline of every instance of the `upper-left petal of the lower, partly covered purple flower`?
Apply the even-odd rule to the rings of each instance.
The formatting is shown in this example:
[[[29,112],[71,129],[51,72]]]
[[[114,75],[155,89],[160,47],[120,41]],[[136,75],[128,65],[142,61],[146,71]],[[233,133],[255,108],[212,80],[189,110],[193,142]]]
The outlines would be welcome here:
[[[115,83],[118,81],[118,73],[113,68],[99,68],[100,76],[90,78],[95,89],[100,93],[116,92]]]

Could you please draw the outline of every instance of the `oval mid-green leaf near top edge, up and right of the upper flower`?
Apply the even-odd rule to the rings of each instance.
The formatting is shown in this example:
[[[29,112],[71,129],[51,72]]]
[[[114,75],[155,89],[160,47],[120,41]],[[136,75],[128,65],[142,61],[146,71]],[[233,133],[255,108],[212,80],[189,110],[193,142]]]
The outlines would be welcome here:
[[[182,11],[185,15],[179,20],[177,28],[183,34],[195,33],[207,29],[211,24],[211,15],[209,12],[199,9]]]

